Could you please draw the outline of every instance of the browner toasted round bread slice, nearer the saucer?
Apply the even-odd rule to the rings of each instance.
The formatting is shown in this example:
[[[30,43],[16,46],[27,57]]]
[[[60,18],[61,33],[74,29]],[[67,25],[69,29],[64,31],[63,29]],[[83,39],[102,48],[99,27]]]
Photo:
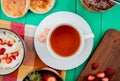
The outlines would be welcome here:
[[[37,14],[44,14],[50,11],[55,0],[30,0],[30,10]]]

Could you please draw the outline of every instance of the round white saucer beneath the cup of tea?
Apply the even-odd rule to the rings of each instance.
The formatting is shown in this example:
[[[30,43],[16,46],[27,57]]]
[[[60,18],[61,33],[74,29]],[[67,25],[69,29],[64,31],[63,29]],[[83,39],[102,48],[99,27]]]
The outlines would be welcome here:
[[[84,34],[92,33],[87,22],[80,16],[67,11],[56,12],[47,16],[39,24],[34,36],[34,45],[35,45],[35,49],[38,56],[45,64],[55,69],[69,70],[69,69],[76,68],[79,65],[81,65],[83,62],[85,62],[85,60],[88,58],[88,56],[91,53],[91,50],[93,47],[93,38],[85,40],[84,49],[82,50],[81,54],[75,57],[74,59],[68,59],[68,60],[57,59],[49,53],[47,49],[47,45],[45,43],[38,41],[36,37],[41,32],[43,32],[45,28],[47,27],[51,28],[54,25],[61,22],[67,22],[67,23],[74,22],[75,24],[80,26]]]

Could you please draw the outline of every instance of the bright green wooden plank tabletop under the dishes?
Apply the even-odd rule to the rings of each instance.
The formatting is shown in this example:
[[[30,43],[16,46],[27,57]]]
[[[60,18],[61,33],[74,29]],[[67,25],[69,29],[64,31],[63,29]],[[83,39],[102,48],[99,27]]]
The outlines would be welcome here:
[[[44,19],[46,16],[54,12],[57,11],[75,12],[78,15],[82,16],[88,22],[93,33],[95,34],[93,51],[91,53],[92,55],[93,52],[95,51],[95,48],[99,44],[102,36],[108,29],[114,28],[120,30],[119,10],[120,5],[115,5],[112,9],[107,10],[105,12],[92,12],[84,8],[80,0],[56,0],[54,8],[50,12],[43,15],[38,15],[31,11],[28,11],[28,13],[24,17],[18,19],[7,17],[2,12],[0,7],[0,19],[20,22],[24,24],[33,24],[37,26],[42,21],[42,19]],[[75,69],[68,70],[65,81],[76,81],[81,71],[84,69],[87,61]]]

